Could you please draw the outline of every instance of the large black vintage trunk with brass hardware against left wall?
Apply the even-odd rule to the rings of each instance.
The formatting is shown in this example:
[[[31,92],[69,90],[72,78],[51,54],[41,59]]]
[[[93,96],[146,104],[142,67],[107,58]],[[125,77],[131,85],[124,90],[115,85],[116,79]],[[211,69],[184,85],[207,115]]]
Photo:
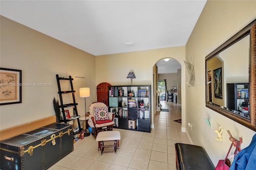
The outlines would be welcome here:
[[[53,123],[0,141],[1,170],[45,170],[73,151],[72,125]]]

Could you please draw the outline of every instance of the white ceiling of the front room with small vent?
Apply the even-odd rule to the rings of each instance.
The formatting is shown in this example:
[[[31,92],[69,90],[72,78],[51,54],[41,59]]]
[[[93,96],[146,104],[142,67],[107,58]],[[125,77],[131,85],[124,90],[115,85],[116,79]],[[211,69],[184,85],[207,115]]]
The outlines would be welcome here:
[[[205,3],[1,0],[0,14],[93,55],[106,55],[186,45]]]

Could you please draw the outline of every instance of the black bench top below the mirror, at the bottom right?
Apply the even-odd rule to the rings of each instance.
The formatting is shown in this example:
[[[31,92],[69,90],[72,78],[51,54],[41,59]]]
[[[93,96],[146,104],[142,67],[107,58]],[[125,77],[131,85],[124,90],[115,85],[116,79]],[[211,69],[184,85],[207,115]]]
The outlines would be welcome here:
[[[178,170],[214,170],[214,165],[201,146],[176,143],[175,150]]]

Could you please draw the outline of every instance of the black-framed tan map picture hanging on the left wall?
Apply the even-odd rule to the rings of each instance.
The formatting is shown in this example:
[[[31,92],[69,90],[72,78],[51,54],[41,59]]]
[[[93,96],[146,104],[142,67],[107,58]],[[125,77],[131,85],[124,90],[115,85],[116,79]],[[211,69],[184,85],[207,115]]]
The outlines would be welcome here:
[[[21,103],[21,70],[0,68],[0,105]]]

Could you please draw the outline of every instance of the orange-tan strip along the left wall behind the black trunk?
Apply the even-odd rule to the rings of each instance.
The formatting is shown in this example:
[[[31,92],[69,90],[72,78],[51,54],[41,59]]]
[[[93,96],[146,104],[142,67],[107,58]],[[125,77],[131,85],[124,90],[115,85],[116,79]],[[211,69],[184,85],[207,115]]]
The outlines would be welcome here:
[[[30,130],[34,130],[36,128],[49,125],[51,123],[56,123],[56,116],[46,117],[44,119],[40,119],[30,123],[25,123],[22,125],[18,125],[16,127],[7,128],[0,131],[0,140],[4,140],[16,136],[18,134],[22,134]]]

